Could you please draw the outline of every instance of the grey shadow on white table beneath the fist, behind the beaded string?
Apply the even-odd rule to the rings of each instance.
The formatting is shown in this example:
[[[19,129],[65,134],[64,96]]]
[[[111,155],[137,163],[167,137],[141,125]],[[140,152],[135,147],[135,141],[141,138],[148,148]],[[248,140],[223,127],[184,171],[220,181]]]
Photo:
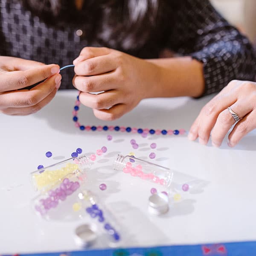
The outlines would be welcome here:
[[[152,105],[141,104],[113,122],[97,119],[90,108],[81,105],[78,117],[81,125],[123,125],[173,130],[185,128],[187,130],[209,99],[209,97],[199,100],[182,98],[180,101],[177,98],[165,98],[161,99],[161,104],[157,104],[157,102],[152,102]],[[170,100],[174,101],[172,106],[169,106]],[[49,125],[55,130],[76,134],[79,132],[79,129],[75,128],[72,120],[74,101],[75,99],[60,94],[49,105],[36,113],[35,117],[46,119]],[[154,127],[151,127],[152,124],[154,124]]]

